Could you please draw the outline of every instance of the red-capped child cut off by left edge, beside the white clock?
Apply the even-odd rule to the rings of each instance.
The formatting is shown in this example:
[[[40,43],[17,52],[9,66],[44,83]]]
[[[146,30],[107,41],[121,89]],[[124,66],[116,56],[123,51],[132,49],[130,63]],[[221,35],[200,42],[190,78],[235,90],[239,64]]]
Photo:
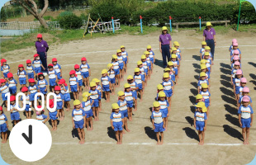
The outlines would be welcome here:
[[[4,115],[2,111],[2,106],[0,106],[0,133],[2,136],[2,144],[7,143],[7,130],[8,130],[8,120],[7,116]]]

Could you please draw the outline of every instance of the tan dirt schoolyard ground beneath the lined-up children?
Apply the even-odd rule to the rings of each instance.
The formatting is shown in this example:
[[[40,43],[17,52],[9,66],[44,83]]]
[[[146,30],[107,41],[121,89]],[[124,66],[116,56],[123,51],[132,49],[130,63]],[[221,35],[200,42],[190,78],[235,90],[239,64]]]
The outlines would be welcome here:
[[[244,77],[248,80],[250,96],[256,101],[256,35],[230,32],[216,35],[216,60],[211,72],[211,107],[207,124],[205,145],[198,145],[197,131],[192,126],[192,104],[197,95],[198,60],[202,36],[195,31],[182,31],[172,35],[181,45],[183,60],[178,85],[174,88],[168,131],[164,132],[164,144],[156,145],[156,137],[149,120],[150,107],[156,96],[156,86],[163,75],[162,57],[159,53],[159,33],[150,35],[117,35],[93,40],[78,40],[64,45],[50,45],[48,62],[56,57],[64,70],[64,78],[74,64],[80,64],[85,56],[92,68],[92,78],[100,78],[101,70],[111,62],[120,45],[126,45],[130,63],[128,73],[132,74],[136,62],[147,45],[154,48],[156,64],[154,73],[145,88],[144,101],[138,101],[138,111],[134,112],[133,121],[128,123],[130,133],[126,133],[122,145],[116,145],[115,135],[110,128],[109,116],[111,103],[117,96],[111,96],[111,102],[102,100],[99,121],[94,121],[94,130],[86,131],[86,144],[78,144],[73,135],[71,112],[65,113],[65,119],[59,122],[58,130],[52,132],[53,144],[50,152],[36,163],[26,163],[12,153],[9,144],[1,145],[2,158],[12,164],[246,164],[253,160],[256,153],[255,124],[250,129],[250,144],[243,145],[239,128],[236,101],[230,85],[230,55],[228,47],[236,38],[242,51]],[[18,64],[26,64],[36,53],[34,48],[8,52],[7,60],[12,72],[17,72]],[[17,61],[17,62],[15,62]],[[126,81],[116,93],[123,90]],[[81,97],[80,97],[81,99]],[[254,104],[255,105],[255,104]],[[10,114],[5,112],[10,120]],[[22,120],[25,119],[21,115]],[[33,115],[32,118],[36,118]],[[9,123],[11,123],[9,121]],[[49,123],[46,124],[49,128]],[[10,126],[12,128],[12,126]],[[42,142],[43,143],[43,142]],[[26,148],[24,148],[26,152]]]

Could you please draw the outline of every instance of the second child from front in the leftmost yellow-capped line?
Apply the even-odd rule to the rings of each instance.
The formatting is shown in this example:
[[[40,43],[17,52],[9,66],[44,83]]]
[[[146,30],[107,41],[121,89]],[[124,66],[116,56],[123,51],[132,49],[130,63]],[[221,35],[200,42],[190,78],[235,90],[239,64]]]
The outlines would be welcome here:
[[[87,130],[93,130],[93,126],[92,126],[92,104],[93,104],[93,100],[91,100],[91,96],[92,94],[89,92],[83,92],[83,101],[82,101],[82,107],[83,107],[83,111],[85,112],[86,115],[86,128]]]

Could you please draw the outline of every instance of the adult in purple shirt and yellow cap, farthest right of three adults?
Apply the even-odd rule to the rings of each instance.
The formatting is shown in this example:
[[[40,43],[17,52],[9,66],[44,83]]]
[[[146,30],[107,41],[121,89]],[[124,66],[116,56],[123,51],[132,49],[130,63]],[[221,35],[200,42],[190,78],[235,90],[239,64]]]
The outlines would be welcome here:
[[[203,41],[211,48],[212,60],[214,60],[214,51],[216,46],[216,31],[211,27],[211,22],[206,22],[206,29],[203,31]]]

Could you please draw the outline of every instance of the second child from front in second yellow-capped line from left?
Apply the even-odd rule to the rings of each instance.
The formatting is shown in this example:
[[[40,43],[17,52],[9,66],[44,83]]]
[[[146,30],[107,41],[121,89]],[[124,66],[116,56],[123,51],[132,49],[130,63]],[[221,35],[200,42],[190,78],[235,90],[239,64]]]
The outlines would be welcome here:
[[[118,92],[118,101],[117,104],[119,106],[119,111],[121,112],[121,114],[124,116],[124,129],[127,132],[130,132],[130,130],[128,129],[128,122],[127,122],[127,118],[129,116],[130,119],[130,115],[132,115],[132,111],[128,112],[128,107],[127,107],[127,102],[126,102],[126,97],[125,97],[125,92]],[[129,113],[129,115],[128,115]],[[123,133],[125,134],[125,131],[123,131]]]

